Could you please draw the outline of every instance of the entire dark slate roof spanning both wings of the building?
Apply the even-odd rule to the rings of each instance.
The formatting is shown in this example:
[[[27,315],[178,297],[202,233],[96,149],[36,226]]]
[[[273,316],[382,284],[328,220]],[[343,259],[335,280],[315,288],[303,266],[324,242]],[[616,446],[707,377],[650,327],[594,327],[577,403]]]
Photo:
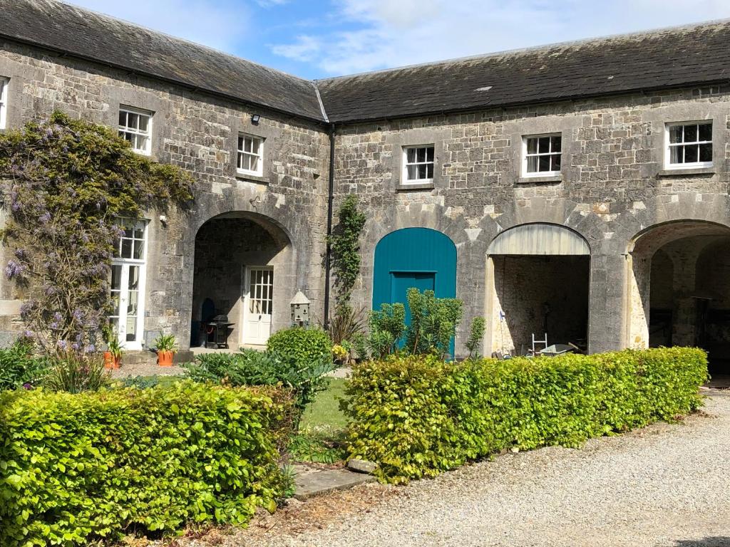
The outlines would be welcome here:
[[[59,1],[1,1],[0,38],[316,121],[380,120],[730,80],[730,20],[310,82]]]

